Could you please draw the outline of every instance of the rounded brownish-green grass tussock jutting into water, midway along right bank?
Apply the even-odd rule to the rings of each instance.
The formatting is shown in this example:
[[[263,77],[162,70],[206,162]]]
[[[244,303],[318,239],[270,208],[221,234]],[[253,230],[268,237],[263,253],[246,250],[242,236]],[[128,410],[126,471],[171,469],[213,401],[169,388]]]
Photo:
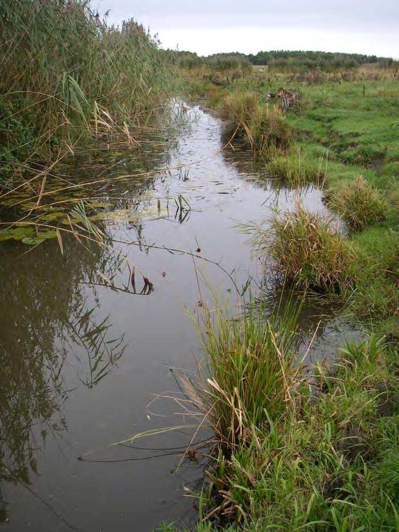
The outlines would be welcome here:
[[[340,293],[353,284],[352,245],[334,230],[332,220],[297,205],[276,214],[270,228],[258,229],[254,242],[272,259],[272,267],[299,289]]]

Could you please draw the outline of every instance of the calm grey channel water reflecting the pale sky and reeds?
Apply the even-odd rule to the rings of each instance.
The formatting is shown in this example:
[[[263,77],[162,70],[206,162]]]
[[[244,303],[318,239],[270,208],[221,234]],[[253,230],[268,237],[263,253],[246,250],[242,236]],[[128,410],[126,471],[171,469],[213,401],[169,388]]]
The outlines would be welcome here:
[[[27,253],[0,247],[0,518],[8,530],[150,530],[196,515],[183,486],[201,478],[200,454],[177,468],[193,431],[163,431],[182,425],[182,410],[153,400],[179,391],[173,368],[196,369],[186,310],[212,304],[207,283],[231,305],[234,285],[249,282],[275,297],[234,225],[292,208],[295,193],[250,153],[223,150],[217,119],[198,107],[190,115],[166,161],[145,147],[146,170],[159,169],[150,174],[137,154],[65,163],[63,179],[94,181],[90,195],[107,204],[97,222],[115,252],[72,239],[64,256],[54,240]],[[301,200],[325,208],[315,188]],[[322,306],[304,306],[302,330],[320,317],[312,361],[343,341]],[[329,351],[324,337],[333,339]],[[131,440],[147,430],[159,433]],[[195,443],[200,450],[199,435]]]

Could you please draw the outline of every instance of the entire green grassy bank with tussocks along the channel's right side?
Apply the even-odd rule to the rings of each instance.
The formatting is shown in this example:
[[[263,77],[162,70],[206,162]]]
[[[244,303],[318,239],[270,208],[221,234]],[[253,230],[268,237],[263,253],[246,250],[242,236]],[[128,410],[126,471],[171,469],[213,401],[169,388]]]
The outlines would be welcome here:
[[[217,301],[213,318],[205,309],[199,390],[220,444],[198,531],[399,530],[399,85],[394,72],[365,70],[201,82],[228,134],[239,132],[271,174],[288,187],[322,186],[344,231],[301,205],[249,229],[268,269],[296,292],[340,301],[365,339],[309,377],[292,307],[252,303],[234,320]],[[285,113],[267,97],[280,85],[302,95]],[[251,142],[270,129],[259,113],[278,115],[284,146]]]

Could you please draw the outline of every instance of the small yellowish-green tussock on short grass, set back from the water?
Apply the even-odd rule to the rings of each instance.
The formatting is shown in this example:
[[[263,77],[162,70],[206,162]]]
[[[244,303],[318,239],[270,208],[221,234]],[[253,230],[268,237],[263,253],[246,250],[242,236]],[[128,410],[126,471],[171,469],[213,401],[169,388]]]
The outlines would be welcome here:
[[[353,184],[327,192],[330,209],[342,214],[355,230],[386,220],[389,204],[383,194],[359,176]]]

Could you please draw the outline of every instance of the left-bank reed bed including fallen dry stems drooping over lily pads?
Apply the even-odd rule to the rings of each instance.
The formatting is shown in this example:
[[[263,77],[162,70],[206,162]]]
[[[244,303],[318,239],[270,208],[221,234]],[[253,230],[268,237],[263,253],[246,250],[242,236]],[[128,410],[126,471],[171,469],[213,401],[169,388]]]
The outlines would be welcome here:
[[[0,204],[9,220],[0,239],[39,243],[77,230],[62,222],[81,198],[86,208],[102,203],[60,163],[82,151],[91,164],[116,148],[140,152],[150,137],[166,148],[162,117],[170,122],[181,81],[140,23],[109,26],[83,0],[5,0],[0,28]],[[84,213],[84,223],[70,218],[87,233]]]

